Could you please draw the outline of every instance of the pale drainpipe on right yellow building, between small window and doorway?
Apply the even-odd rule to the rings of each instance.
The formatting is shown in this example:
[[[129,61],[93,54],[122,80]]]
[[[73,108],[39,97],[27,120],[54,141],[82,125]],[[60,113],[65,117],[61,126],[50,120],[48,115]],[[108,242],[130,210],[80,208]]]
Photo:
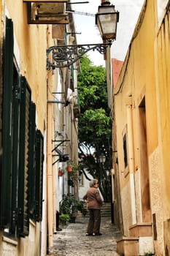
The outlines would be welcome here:
[[[131,97],[129,97],[131,100]],[[131,217],[132,224],[136,223],[136,197],[134,186],[134,137],[132,125],[132,106],[126,105],[127,127],[128,127],[128,166],[130,175],[130,192],[131,192]]]

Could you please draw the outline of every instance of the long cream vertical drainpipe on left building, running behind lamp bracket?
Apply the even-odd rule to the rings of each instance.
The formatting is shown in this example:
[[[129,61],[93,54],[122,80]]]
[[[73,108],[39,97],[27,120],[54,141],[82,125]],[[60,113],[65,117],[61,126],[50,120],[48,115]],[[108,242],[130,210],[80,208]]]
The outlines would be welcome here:
[[[48,26],[49,28],[49,26]],[[47,47],[52,34],[47,29]],[[52,100],[50,91],[53,91],[52,73],[47,72],[47,102]],[[48,248],[53,247],[53,162],[52,162],[52,139],[53,139],[53,103],[47,103],[47,234]]]

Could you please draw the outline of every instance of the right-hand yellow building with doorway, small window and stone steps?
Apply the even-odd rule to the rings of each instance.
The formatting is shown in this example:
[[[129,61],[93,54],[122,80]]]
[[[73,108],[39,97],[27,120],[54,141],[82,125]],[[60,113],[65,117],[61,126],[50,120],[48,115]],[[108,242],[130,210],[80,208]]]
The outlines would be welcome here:
[[[169,1],[144,1],[114,89],[113,159],[124,255],[169,255]]]

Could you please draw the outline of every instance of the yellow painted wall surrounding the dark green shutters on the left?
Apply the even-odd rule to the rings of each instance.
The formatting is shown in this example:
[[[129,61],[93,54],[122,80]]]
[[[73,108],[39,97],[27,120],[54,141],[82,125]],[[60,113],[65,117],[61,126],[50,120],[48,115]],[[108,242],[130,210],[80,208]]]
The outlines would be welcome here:
[[[1,6],[0,6],[1,7]],[[26,77],[31,88],[31,99],[36,105],[36,128],[44,135],[47,128],[47,26],[28,25],[27,5],[22,0],[4,1],[2,20],[11,18],[14,27],[14,57],[20,75]],[[5,23],[1,23],[5,27]],[[51,26],[49,26],[51,31]],[[1,35],[3,31],[0,29]],[[1,255],[40,255],[41,222],[30,222],[29,235],[17,241],[2,237]],[[47,239],[47,237],[45,238]]]

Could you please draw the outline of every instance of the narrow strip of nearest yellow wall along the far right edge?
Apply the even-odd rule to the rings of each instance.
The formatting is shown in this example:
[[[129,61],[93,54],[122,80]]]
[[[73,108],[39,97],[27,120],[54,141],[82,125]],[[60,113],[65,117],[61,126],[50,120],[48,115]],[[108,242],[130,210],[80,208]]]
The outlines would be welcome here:
[[[169,218],[170,218],[170,187],[169,187],[169,151],[170,151],[170,14],[166,12],[161,26],[158,27],[158,36],[155,41],[155,69],[157,70],[157,103],[158,103],[158,120],[159,120],[159,144],[161,148],[162,166],[161,166],[161,180],[163,186],[161,195],[163,195],[162,208],[160,215],[162,222],[158,225],[161,226],[161,236],[163,237],[163,244],[165,253],[170,250],[170,237],[169,237]],[[159,221],[159,219],[158,219]],[[155,246],[158,247],[159,241],[156,241]],[[159,248],[159,247],[158,247]]]

